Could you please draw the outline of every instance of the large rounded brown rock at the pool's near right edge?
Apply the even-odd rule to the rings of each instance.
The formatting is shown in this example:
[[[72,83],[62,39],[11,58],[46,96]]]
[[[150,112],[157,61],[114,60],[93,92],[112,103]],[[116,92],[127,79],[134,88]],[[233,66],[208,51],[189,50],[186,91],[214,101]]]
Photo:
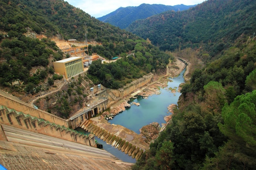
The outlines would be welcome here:
[[[159,129],[160,125],[157,122],[153,122],[149,125],[143,126],[139,131],[141,135],[145,137],[145,142],[150,143],[157,139]]]

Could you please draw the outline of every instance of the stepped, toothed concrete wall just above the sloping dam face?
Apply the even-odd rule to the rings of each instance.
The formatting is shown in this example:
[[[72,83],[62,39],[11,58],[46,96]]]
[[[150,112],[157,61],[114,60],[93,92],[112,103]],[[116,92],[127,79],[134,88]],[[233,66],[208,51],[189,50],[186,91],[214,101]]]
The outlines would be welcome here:
[[[29,130],[31,132],[37,132],[43,135],[64,139],[67,141],[74,141],[79,144],[87,146],[95,146],[94,135],[84,135],[76,130],[60,126],[31,115],[26,115],[22,112],[17,112],[13,109],[0,106],[0,124],[5,124],[20,128],[23,130]],[[4,137],[1,132],[2,138]]]

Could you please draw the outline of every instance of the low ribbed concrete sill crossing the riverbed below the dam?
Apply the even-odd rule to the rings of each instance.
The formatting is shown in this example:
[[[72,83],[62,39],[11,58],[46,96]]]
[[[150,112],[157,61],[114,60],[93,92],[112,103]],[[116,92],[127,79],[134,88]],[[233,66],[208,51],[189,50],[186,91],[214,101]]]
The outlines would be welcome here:
[[[109,126],[113,126],[113,125],[109,125]],[[127,138],[119,137],[119,136],[122,136],[121,129],[119,132],[113,133],[113,131],[110,129],[107,130],[102,128],[102,126],[99,127],[92,120],[85,120],[80,127],[90,133],[93,133],[95,136],[99,137],[103,141],[106,141],[106,143],[112,145],[118,150],[121,150],[122,152],[124,152],[125,154],[128,154],[129,156],[131,156],[132,158],[135,158],[136,160],[139,159],[139,157],[145,150],[145,148],[140,148],[139,146],[133,144],[134,142],[132,142],[132,140],[137,138],[137,137],[134,137],[134,134],[128,135]],[[130,138],[130,140],[128,138]]]

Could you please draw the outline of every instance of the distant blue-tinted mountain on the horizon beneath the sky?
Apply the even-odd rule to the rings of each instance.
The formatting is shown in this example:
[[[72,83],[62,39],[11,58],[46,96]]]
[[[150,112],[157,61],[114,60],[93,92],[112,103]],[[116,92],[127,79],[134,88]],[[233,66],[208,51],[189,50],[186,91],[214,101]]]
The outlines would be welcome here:
[[[150,16],[162,13],[164,11],[183,11],[194,7],[195,5],[162,5],[162,4],[141,4],[138,7],[120,7],[119,9],[97,18],[102,22],[108,22],[114,26],[118,26],[121,29],[126,29],[133,21],[139,19],[145,19]]]

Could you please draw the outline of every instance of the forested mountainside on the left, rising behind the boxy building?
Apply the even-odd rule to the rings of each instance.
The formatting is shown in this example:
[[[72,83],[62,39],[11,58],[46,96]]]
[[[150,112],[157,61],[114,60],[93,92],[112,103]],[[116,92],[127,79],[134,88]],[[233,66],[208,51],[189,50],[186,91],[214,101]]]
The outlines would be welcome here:
[[[101,70],[92,75],[94,83],[109,88],[124,86],[153,70],[164,71],[170,57],[146,40],[103,23],[63,0],[0,0],[0,85],[20,92],[40,92],[47,78],[56,79],[52,77],[52,62],[69,57],[51,40],[85,41],[85,33],[88,41],[102,44],[89,45],[90,54],[97,53],[111,59],[134,53],[125,61],[106,64],[108,68],[104,73]],[[119,69],[111,70],[114,65]],[[32,71],[32,68],[37,71]],[[125,71],[125,68],[130,68],[130,71]],[[108,74],[107,78],[105,74]],[[22,86],[12,86],[17,80]],[[53,83],[50,80],[48,85]]]

